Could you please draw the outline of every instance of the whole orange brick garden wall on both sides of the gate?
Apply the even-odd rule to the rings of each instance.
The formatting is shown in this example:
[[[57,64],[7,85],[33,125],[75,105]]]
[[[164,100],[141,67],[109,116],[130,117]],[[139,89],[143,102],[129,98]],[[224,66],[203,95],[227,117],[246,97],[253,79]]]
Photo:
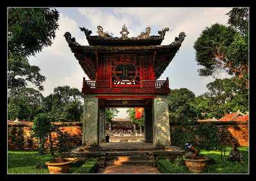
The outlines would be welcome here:
[[[68,145],[72,147],[78,147],[81,145],[82,122],[55,122],[54,124],[62,133],[66,132],[69,134],[67,142]],[[198,122],[195,126],[191,127],[191,129],[184,131],[193,131],[196,129],[198,124],[204,124],[204,122]],[[38,145],[36,144],[35,138],[32,138],[31,136],[32,126],[32,122],[8,122],[8,150],[36,150]],[[219,130],[222,129],[226,145],[238,143],[241,146],[248,146],[248,122],[215,121],[213,126],[218,127]],[[171,124],[171,132],[175,130],[175,127],[177,127],[177,124]],[[58,136],[58,133],[52,133],[52,140],[55,148],[58,143]]]

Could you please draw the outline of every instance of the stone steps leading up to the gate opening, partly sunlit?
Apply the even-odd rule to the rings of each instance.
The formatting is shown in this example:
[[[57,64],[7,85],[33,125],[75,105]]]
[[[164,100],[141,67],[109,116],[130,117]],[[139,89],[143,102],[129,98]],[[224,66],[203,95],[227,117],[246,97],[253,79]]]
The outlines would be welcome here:
[[[99,157],[98,163],[100,168],[127,164],[156,166],[153,152],[106,152]]]

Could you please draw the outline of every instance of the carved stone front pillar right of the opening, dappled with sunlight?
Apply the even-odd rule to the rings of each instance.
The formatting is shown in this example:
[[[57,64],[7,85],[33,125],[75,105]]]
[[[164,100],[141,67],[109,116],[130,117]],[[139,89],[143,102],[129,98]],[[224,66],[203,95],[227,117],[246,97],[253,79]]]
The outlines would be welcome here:
[[[154,98],[154,147],[168,147],[171,145],[170,124],[167,96],[156,96]]]

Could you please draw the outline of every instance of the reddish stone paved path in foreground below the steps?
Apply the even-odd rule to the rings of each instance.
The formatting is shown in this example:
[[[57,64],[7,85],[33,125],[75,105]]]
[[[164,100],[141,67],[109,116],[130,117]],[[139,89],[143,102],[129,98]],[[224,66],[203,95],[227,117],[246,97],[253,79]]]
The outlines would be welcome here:
[[[144,165],[107,166],[100,168],[98,173],[159,173],[156,167]]]

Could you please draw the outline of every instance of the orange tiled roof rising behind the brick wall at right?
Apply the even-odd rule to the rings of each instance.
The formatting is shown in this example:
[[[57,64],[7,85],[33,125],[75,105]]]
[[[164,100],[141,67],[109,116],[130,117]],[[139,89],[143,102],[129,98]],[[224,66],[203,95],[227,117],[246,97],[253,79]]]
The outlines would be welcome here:
[[[228,122],[228,121],[237,121],[237,122],[246,122],[249,120],[249,115],[248,113],[246,113],[246,115],[244,115],[243,113],[241,113],[240,111],[237,112],[230,112],[225,114],[224,117],[222,117],[221,119],[204,119],[204,120],[198,120],[198,122],[211,122],[211,121],[220,121],[220,122]]]

